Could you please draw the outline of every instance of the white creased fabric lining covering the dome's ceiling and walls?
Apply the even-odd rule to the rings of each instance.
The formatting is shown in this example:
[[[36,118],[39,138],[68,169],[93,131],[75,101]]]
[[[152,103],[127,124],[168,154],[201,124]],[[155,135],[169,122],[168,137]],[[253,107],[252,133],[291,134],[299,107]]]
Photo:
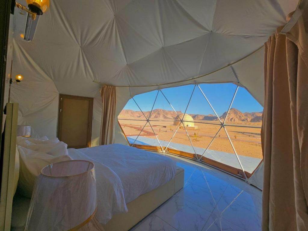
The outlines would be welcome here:
[[[34,136],[55,137],[59,93],[95,97],[92,145],[98,145],[101,84],[117,86],[117,115],[134,95],[196,83],[236,83],[263,105],[263,44],[297,5],[51,1],[30,43],[19,37],[25,16],[16,12],[9,47],[12,75],[25,77],[11,89],[19,124],[31,125]],[[117,124],[115,141],[126,144]],[[251,183],[262,187],[261,175],[258,169]]]

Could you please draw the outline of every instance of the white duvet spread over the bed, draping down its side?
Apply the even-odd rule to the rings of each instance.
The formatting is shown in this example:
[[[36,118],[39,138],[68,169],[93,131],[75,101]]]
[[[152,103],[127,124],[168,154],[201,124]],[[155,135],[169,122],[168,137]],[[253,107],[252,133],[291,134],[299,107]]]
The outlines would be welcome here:
[[[167,183],[176,172],[170,158],[122,144],[70,148],[68,153],[75,160],[95,164],[96,215],[102,224],[116,213],[127,212],[127,203]]]

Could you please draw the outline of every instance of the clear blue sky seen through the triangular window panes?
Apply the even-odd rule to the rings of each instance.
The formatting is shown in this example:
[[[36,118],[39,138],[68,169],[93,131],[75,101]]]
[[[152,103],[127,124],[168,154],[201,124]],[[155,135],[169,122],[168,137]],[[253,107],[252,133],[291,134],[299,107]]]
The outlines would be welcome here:
[[[217,112],[218,116],[221,116],[228,110],[230,102],[232,100],[236,85],[233,83],[211,83],[211,84],[199,84],[201,90],[212,104],[213,108]],[[163,94],[169,100],[171,105],[176,111],[182,111],[184,113],[194,85],[186,85],[180,87],[172,87],[162,89]],[[152,109],[157,91],[151,91],[144,94],[134,96],[134,99],[140,106],[142,111],[150,111]],[[252,95],[246,91],[245,88],[239,87],[232,107],[240,110],[241,112],[253,112],[262,111],[263,107],[253,98]],[[161,108],[164,110],[172,110],[169,103],[159,92],[154,109]],[[139,111],[136,103],[130,99],[124,109],[131,109]],[[213,110],[205,100],[200,89],[195,88],[191,102],[187,108],[188,114],[214,114]]]

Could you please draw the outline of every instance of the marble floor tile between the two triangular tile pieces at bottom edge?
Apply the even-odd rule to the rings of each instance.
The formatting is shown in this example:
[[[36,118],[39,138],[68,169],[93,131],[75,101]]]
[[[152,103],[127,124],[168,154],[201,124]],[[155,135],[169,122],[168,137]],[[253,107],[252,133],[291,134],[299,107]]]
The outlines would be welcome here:
[[[181,197],[173,196],[155,215],[179,231],[201,231],[211,213]]]

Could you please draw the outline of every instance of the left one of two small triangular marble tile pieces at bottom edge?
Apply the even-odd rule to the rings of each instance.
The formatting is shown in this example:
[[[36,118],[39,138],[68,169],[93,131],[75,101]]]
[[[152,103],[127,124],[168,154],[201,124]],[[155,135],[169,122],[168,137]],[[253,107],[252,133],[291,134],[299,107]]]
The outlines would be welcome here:
[[[134,227],[130,231],[177,231],[177,230],[153,214],[152,216],[144,220],[140,225]]]

